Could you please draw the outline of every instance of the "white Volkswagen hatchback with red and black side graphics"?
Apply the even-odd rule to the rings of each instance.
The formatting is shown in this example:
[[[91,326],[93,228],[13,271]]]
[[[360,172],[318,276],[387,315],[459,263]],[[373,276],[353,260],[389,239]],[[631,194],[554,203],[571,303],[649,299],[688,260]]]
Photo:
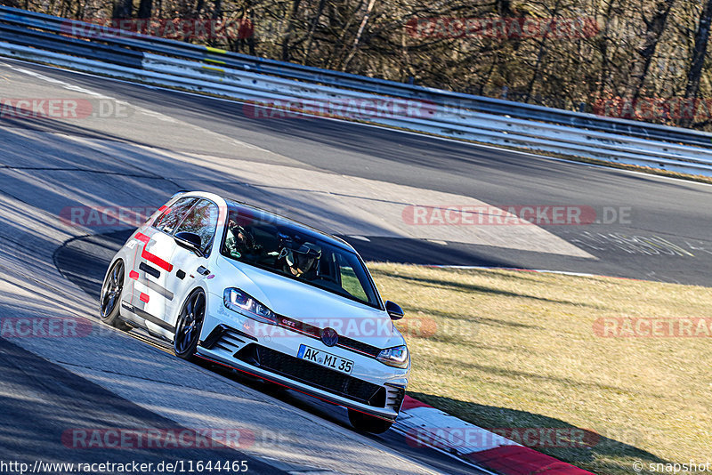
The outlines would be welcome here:
[[[181,192],[111,260],[101,319],[347,407],[352,425],[395,421],[408,347],[359,254],[301,223],[211,193]]]

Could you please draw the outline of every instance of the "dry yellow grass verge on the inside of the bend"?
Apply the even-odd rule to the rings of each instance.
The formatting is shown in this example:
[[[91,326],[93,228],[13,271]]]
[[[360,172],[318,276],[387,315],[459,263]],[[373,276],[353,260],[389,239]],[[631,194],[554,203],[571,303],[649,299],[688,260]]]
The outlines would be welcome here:
[[[633,473],[635,461],[712,462],[712,328],[699,320],[712,307],[708,288],[390,263],[369,269],[384,298],[406,310],[398,326],[412,354],[414,398],[486,428],[592,431],[584,444],[533,448],[599,474]],[[692,327],[674,333],[698,337],[631,336],[667,334],[681,321]]]

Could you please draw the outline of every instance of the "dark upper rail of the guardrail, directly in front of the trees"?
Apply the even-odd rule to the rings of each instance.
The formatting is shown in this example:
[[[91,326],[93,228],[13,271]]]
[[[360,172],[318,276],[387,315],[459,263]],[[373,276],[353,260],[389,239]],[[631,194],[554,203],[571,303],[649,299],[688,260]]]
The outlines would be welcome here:
[[[76,33],[77,36],[82,36],[82,32],[87,33],[91,28],[89,23],[83,21],[68,20],[44,13],[28,12],[6,6],[0,6],[0,21],[14,23],[24,27],[41,28],[47,31],[53,31],[54,33],[67,34],[73,32]],[[490,114],[508,115],[515,118],[570,125],[602,132],[623,133],[645,139],[677,141],[689,145],[712,145],[712,133],[703,133],[665,125],[646,124],[634,120],[613,117],[599,117],[594,114],[551,109],[533,104],[504,101],[472,94],[453,93],[424,86],[406,85],[374,77],[357,76],[340,71],[313,68],[285,61],[257,58],[237,52],[225,52],[198,44],[184,43],[156,36],[145,36],[124,30],[119,32],[119,30],[111,28],[102,29],[110,31],[111,35],[98,38],[92,35],[91,37],[107,42],[108,44],[135,47],[143,51],[169,54],[184,59],[214,60],[223,63],[229,68],[242,68],[272,76],[282,76],[322,85],[333,85],[367,93],[386,94],[421,101],[433,101],[449,107],[472,109]],[[0,36],[0,38],[2,37]]]

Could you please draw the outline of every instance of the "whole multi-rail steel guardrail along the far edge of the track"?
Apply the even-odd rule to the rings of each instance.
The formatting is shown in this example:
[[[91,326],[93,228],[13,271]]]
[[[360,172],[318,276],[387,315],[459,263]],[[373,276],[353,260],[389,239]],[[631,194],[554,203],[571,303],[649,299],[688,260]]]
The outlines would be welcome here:
[[[366,118],[496,145],[712,176],[709,133],[402,85],[126,31],[96,36],[87,28],[80,21],[0,6],[0,54],[248,101],[298,99],[306,109],[335,98],[423,101],[437,107],[417,117]]]

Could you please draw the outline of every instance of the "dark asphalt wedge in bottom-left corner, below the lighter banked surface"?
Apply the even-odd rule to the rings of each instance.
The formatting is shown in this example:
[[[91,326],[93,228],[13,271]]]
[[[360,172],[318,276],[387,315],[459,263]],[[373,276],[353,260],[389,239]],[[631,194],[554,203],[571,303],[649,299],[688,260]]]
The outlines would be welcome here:
[[[4,410],[0,429],[0,457],[4,461],[44,460],[55,463],[104,463],[104,450],[84,449],[77,460],[77,447],[84,447],[81,435],[87,428],[155,428],[180,433],[165,417],[156,415],[116,394],[72,374],[63,367],[38,358],[27,350],[0,339],[3,379],[0,381],[0,407]],[[68,427],[67,421],[76,425]],[[73,437],[73,436],[77,437]],[[88,444],[87,444],[88,445]],[[170,447],[150,449],[126,447],[122,460],[115,463],[181,463],[188,460],[245,461],[250,473],[286,473],[230,448]],[[183,462],[185,463],[185,462]],[[59,470],[57,470],[59,472]],[[112,472],[112,471],[107,471]]]

